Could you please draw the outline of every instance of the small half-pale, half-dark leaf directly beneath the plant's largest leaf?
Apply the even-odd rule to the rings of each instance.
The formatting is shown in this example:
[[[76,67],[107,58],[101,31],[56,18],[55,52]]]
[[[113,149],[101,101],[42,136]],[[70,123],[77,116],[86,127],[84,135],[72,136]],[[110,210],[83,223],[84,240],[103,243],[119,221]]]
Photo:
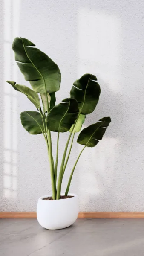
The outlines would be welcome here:
[[[46,100],[46,93],[41,93],[41,99],[43,102],[44,111],[47,112],[47,100]],[[49,102],[49,110],[51,110],[53,107],[55,107],[55,93],[47,93],[48,96],[48,102]]]

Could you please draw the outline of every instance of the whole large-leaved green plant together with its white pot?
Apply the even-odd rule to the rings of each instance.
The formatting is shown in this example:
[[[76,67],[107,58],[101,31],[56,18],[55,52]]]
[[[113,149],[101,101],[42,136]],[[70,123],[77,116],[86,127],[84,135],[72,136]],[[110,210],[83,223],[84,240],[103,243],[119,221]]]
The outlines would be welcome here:
[[[70,97],[55,105],[55,92],[60,89],[61,81],[57,64],[26,38],[15,38],[12,49],[17,65],[25,80],[30,82],[32,89],[14,81],[7,82],[15,90],[25,94],[37,108],[37,111],[22,112],[21,123],[30,134],[43,134],[49,156],[52,195],[44,195],[38,199],[37,220],[46,229],[65,228],[73,224],[78,217],[78,196],[69,194],[75,166],[84,148],[94,147],[102,140],[111,119],[104,117],[81,131],[86,115],[92,113],[98,104],[101,89],[96,76],[84,74],[73,83]],[[51,131],[58,134],[55,161],[52,155]],[[63,132],[68,132],[68,140],[58,172],[59,136]],[[78,132],[80,133],[77,142],[84,147],[74,163],[66,191],[61,194],[63,175],[75,133]]]

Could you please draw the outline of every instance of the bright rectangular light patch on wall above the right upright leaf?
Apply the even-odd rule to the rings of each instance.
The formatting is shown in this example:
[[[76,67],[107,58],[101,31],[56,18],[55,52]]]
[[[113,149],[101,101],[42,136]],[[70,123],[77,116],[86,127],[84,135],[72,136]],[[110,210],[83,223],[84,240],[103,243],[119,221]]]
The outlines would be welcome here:
[[[120,89],[119,58],[121,22],[118,17],[100,11],[78,12],[78,76],[93,73],[109,84],[113,92]]]

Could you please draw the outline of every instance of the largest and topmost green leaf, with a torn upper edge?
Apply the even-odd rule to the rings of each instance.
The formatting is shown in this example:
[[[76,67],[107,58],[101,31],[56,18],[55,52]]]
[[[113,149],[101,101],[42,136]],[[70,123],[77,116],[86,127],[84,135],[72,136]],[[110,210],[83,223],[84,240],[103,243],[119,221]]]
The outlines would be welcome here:
[[[26,38],[15,38],[12,44],[15,60],[37,93],[53,93],[60,89],[61,74],[58,65]]]

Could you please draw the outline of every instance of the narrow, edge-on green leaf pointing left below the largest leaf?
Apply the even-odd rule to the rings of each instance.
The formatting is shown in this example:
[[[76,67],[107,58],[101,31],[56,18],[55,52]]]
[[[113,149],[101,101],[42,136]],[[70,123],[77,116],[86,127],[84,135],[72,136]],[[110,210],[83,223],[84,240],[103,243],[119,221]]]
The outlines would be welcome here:
[[[25,94],[37,109],[40,108],[40,99],[35,91],[25,85],[16,84],[14,81],[7,81],[7,83],[11,84],[18,92]]]

